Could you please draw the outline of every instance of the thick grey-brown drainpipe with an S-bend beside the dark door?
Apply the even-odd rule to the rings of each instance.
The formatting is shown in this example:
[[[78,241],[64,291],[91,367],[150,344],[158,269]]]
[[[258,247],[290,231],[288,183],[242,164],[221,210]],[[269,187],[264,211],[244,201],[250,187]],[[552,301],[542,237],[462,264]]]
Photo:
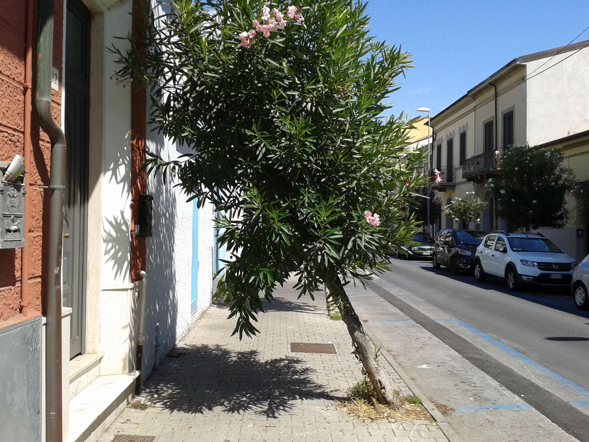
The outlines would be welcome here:
[[[39,126],[51,140],[49,195],[49,253],[47,266],[47,325],[45,365],[45,416],[47,442],[61,442],[61,247],[65,193],[65,136],[51,114],[51,64],[53,59],[53,0],[39,0],[37,40],[37,94]]]

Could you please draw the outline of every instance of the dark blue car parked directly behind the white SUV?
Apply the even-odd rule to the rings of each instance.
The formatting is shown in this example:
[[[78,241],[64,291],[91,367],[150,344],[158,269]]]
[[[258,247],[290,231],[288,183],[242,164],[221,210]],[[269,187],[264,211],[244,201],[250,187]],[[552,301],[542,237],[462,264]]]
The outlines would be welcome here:
[[[475,250],[485,235],[487,232],[481,230],[440,230],[434,243],[432,265],[435,269],[447,266],[453,275],[471,271]]]

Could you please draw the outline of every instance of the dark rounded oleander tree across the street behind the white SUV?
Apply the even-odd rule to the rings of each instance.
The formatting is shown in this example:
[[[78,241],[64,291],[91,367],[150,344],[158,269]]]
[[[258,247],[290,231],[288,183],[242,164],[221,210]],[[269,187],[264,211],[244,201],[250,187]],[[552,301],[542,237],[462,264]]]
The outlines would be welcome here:
[[[575,176],[564,166],[564,159],[560,149],[504,149],[499,160],[501,174],[489,179],[489,187],[497,201],[497,215],[509,227],[561,229],[567,224],[566,195],[575,189]]]

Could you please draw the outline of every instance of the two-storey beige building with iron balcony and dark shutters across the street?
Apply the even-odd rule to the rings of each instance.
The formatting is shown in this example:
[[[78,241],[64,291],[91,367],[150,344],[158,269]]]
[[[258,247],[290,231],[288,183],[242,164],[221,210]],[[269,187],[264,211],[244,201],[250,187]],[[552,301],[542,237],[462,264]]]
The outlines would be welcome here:
[[[469,227],[507,228],[495,216],[487,184],[498,173],[501,149],[526,143],[548,147],[589,129],[588,47],[589,40],[514,58],[432,118],[431,169],[441,171],[442,182],[434,187],[442,203],[473,191],[489,203],[480,224]],[[580,159],[570,157],[573,169]],[[575,218],[571,223],[578,224]],[[435,231],[452,227],[463,226],[442,216]],[[578,226],[570,227],[576,235]]]

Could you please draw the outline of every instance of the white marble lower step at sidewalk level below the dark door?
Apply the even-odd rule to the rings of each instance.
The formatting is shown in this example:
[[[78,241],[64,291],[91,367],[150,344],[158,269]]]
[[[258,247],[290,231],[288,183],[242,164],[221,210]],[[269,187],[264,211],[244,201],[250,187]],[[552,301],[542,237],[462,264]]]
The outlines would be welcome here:
[[[70,400],[70,433],[64,442],[94,442],[127,407],[135,392],[134,370],[98,376]]]

